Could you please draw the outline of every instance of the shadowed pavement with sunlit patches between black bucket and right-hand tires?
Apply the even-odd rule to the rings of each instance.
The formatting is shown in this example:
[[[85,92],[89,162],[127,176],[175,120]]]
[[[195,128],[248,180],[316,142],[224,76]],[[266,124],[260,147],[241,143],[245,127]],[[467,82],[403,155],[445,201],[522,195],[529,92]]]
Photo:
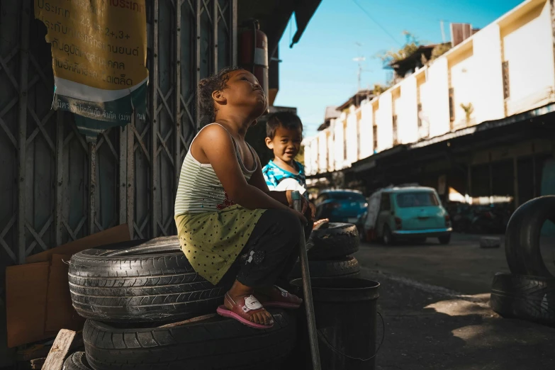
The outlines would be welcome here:
[[[458,295],[366,268],[362,275],[381,284],[386,336],[376,369],[555,369],[555,328],[500,318],[488,294]]]

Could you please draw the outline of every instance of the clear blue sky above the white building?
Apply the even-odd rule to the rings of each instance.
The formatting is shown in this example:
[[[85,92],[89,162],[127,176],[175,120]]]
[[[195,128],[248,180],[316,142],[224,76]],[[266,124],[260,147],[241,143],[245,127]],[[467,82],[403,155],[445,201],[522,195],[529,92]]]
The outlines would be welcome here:
[[[449,22],[483,28],[522,2],[356,0],[384,31],[354,1],[323,0],[298,44],[289,48],[296,30],[294,21],[281,38],[279,58],[283,62],[279,66],[279,93],[274,105],[297,107],[305,137],[316,133],[326,106],[338,106],[357,91],[354,57],[366,57],[362,88],[384,83],[387,72],[376,54],[402,46],[403,30],[413,33],[422,44],[440,43],[440,20],[444,20],[446,39],[450,40]]]

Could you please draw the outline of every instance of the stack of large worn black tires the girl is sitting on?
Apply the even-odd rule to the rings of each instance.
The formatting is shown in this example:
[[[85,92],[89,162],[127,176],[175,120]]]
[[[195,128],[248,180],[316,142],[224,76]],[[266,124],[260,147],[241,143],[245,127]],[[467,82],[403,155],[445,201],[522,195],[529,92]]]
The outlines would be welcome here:
[[[279,369],[295,343],[294,317],[269,310],[274,327],[256,330],[211,316],[234,269],[213,286],[196,274],[175,236],[74,254],[69,291],[87,319],[85,353],[69,356],[65,369]]]

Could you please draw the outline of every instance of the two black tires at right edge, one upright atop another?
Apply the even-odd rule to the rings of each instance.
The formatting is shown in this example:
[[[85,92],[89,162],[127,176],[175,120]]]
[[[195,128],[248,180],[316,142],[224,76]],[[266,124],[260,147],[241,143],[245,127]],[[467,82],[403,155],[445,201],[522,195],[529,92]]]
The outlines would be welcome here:
[[[539,245],[546,220],[555,223],[555,196],[532,199],[510,218],[505,255],[511,274],[495,274],[490,305],[503,317],[555,326],[555,276],[547,269]]]

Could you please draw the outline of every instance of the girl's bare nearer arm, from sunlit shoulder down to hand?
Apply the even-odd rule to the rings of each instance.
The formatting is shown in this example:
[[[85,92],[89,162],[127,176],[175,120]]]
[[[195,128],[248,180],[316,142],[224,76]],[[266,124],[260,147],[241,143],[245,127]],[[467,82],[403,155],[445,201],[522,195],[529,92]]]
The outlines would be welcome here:
[[[289,208],[285,203],[276,201],[257,186],[247,183],[237,162],[232,139],[225,128],[211,125],[202,130],[195,143],[200,145],[231,201],[248,209],[286,209],[296,213],[303,223],[307,222],[301,213]]]

